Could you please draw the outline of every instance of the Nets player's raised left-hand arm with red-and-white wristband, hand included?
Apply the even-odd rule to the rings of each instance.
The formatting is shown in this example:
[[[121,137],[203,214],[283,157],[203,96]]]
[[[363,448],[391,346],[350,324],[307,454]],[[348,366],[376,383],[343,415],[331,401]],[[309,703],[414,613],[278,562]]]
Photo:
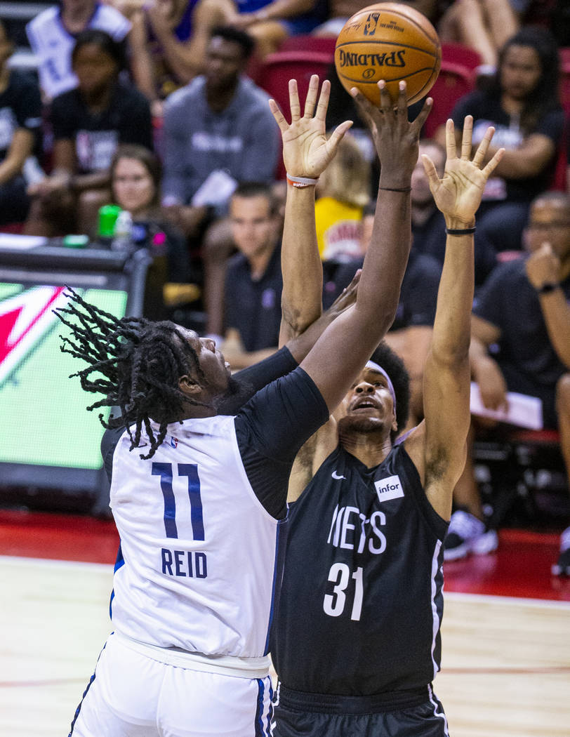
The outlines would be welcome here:
[[[297,83],[296,80],[290,80],[291,124],[285,121],[277,103],[273,99],[269,101],[269,107],[282,134],[285,169],[294,178],[316,181],[335,156],[342,136],[352,125],[351,121],[341,123],[330,139],[327,139],[325,119],[330,82],[324,80],[316,105],[318,91],[319,77],[313,74],[301,115]],[[322,310],[322,265],[316,242],[315,186],[302,186],[303,184],[307,183],[288,184],[285,203],[279,345],[303,332],[319,317]]]

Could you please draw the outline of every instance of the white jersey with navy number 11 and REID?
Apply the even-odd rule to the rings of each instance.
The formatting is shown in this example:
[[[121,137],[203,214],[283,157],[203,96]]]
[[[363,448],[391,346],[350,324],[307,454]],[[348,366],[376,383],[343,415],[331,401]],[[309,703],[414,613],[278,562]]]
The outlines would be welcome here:
[[[122,552],[114,627],[161,648],[260,657],[281,523],[251,488],[233,416],[187,419],[168,430],[146,461],[140,454],[148,445],[129,451],[126,432],[114,450],[111,509]]]

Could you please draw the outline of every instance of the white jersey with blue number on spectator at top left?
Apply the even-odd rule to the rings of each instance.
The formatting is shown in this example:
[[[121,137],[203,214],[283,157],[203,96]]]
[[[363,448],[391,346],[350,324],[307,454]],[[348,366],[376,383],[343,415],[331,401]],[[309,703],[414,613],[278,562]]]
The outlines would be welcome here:
[[[114,7],[97,3],[87,27],[106,31],[115,41],[122,41],[131,30],[131,22]],[[77,87],[72,71],[75,39],[61,21],[60,7],[49,7],[36,15],[27,24],[26,32],[38,60],[40,85],[46,97],[53,99]]]

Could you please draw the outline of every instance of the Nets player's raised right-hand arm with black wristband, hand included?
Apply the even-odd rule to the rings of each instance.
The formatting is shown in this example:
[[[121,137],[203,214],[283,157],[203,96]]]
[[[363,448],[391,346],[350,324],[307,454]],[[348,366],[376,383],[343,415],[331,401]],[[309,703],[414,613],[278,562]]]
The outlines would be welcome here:
[[[453,122],[448,120],[448,158],[441,180],[433,162],[423,156],[430,189],[438,209],[445,216],[448,231],[464,231],[475,225],[475,213],[484,185],[502,156],[502,150],[499,150],[481,169],[494,132],[490,128],[473,161],[470,161],[472,130],[473,118],[468,116],[458,157]],[[411,458],[424,476],[428,499],[446,520],[451,517],[453,487],[465,465],[465,441],[470,424],[469,346],[473,282],[473,234],[448,234],[431,349],[424,371],[425,422],[416,433],[412,433],[409,443],[406,441]]]

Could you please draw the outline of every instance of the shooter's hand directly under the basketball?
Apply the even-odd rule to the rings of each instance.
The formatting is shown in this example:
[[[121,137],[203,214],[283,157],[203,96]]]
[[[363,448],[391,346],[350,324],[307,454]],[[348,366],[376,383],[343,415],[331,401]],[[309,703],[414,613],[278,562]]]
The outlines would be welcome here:
[[[428,97],[415,120],[408,120],[406,82],[400,82],[397,104],[395,105],[386,89],[386,82],[378,82],[380,88],[380,107],[376,108],[369,99],[353,87],[350,91],[358,110],[372,133],[378,158],[380,158],[381,177],[390,179],[387,184],[409,186],[411,172],[417,164],[420,130],[431,110],[433,99]]]

